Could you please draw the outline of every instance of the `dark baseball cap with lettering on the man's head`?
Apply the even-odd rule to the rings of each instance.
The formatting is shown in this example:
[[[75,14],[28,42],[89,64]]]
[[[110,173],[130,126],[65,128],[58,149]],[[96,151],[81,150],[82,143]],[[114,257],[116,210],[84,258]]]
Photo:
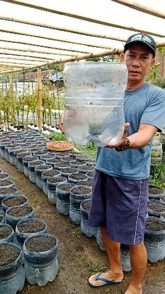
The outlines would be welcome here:
[[[142,43],[148,46],[150,48],[150,51],[152,51],[155,57],[155,53],[157,49],[155,40],[152,38],[152,36],[145,33],[132,34],[131,36],[129,36],[129,38],[126,41],[126,44],[124,45],[124,53],[125,51],[127,51],[127,49],[129,48],[131,44],[136,44],[136,43]]]

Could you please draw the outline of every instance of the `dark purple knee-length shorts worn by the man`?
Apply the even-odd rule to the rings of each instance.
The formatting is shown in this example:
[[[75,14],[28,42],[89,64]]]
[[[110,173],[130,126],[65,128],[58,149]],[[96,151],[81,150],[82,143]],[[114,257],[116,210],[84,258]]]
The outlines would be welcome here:
[[[143,241],[148,180],[126,180],[95,171],[89,225],[106,227],[107,236],[127,245]]]

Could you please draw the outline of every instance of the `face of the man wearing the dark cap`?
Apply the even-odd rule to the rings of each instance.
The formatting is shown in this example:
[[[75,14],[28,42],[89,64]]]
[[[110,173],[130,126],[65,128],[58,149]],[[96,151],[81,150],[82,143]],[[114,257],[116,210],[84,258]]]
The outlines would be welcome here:
[[[150,49],[143,44],[133,44],[124,53],[124,61],[128,69],[128,82],[143,82],[149,69],[154,65]]]

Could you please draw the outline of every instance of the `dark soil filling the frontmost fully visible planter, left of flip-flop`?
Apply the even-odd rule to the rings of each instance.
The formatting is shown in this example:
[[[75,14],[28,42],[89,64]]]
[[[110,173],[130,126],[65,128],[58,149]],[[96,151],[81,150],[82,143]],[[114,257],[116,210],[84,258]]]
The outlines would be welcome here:
[[[52,236],[34,236],[26,243],[29,251],[43,252],[52,249],[56,245],[56,240]]]

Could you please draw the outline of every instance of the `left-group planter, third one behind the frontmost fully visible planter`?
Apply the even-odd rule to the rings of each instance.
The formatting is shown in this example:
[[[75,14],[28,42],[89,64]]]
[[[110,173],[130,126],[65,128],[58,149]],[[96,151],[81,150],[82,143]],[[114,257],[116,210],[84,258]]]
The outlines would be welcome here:
[[[4,213],[6,213],[7,209],[13,206],[27,206],[29,203],[26,196],[22,194],[16,194],[15,196],[8,196],[1,201],[1,206],[3,208]]]

